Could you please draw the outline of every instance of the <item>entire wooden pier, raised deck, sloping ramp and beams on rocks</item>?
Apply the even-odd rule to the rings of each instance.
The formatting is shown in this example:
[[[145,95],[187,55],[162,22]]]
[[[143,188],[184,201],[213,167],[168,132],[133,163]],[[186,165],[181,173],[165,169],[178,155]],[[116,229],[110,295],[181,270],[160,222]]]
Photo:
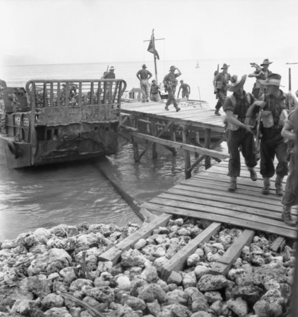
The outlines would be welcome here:
[[[168,147],[169,150],[183,149],[186,180],[142,203],[140,211],[146,222],[143,223],[141,229],[102,253],[100,260],[112,261],[115,265],[120,260],[123,251],[134,248],[141,238],[148,238],[155,229],[165,227],[174,217],[203,220],[205,229],[163,264],[159,273],[165,281],[179,274],[185,268],[187,258],[195,252],[199,244],[208,242],[220,231],[223,224],[242,229],[242,234],[225,250],[219,260],[212,264],[209,270],[211,274],[226,275],[233,262],[240,256],[243,247],[250,245],[255,235],[262,235],[265,232],[276,236],[270,246],[273,252],[283,250],[286,239],[293,241],[297,239],[297,228],[287,226],[281,218],[281,196],[275,193],[275,177],[271,179],[270,194],[261,193],[263,179],[258,165],[255,168],[258,179],[252,181],[244,159],[241,157],[241,173],[237,179],[237,189],[235,192],[227,190],[229,186],[228,155],[210,147],[211,132],[222,133],[222,137],[216,144],[224,141],[222,117],[215,116],[212,110],[202,107],[196,110],[182,108],[178,113],[173,109],[166,111],[163,108],[164,103],[155,102],[124,104],[121,110],[122,126],[125,121],[130,121],[130,125],[125,129],[130,131],[132,141],[135,143],[136,160],[140,159],[142,154],[139,155],[135,138],[144,138],[151,142],[144,151],[147,151],[149,146],[153,146],[153,157],[156,143]],[[145,126],[141,127],[140,123],[145,123]],[[156,127],[161,127],[159,132]],[[182,130],[182,142],[176,141],[176,133],[174,133],[179,129]],[[170,140],[161,137],[165,131],[170,132]],[[200,144],[198,135],[202,132],[205,138],[204,146]],[[193,145],[190,144],[190,133],[195,134]],[[191,152],[201,155],[201,158],[196,157],[192,165],[190,164]],[[195,166],[200,159],[210,157],[216,158],[219,163],[190,178],[191,175],[187,172],[191,170],[191,167]],[[292,215],[295,220],[298,220],[297,206],[292,209]]]

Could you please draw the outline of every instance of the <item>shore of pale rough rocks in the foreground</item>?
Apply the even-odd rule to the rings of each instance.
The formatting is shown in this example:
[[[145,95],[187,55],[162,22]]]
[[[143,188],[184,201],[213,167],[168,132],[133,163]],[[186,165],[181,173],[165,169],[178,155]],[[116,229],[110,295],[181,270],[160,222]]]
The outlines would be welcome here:
[[[208,223],[177,218],[124,251],[100,254],[139,229],[128,224],[59,225],[0,242],[0,317],[283,317],[295,269],[291,241],[258,233],[226,277],[210,268],[241,229],[222,227],[188,257],[183,271],[160,279],[162,265]]]

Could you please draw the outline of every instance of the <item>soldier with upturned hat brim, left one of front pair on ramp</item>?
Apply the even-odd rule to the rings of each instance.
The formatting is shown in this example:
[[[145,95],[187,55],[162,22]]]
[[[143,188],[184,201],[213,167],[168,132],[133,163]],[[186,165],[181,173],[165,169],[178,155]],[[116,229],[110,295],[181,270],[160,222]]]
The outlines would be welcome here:
[[[228,96],[224,101],[225,112],[225,131],[226,143],[230,155],[228,162],[228,176],[230,176],[229,191],[235,191],[237,188],[237,177],[240,176],[240,152],[242,148],[242,156],[245,164],[250,172],[250,178],[257,180],[257,174],[254,167],[257,165],[254,153],[254,137],[252,134],[253,126],[250,123],[250,117],[247,117],[248,109],[255,105],[261,105],[262,101],[257,101],[252,94],[243,90],[246,75],[242,77],[233,75],[231,77],[231,85],[228,88],[232,91],[232,95]]]

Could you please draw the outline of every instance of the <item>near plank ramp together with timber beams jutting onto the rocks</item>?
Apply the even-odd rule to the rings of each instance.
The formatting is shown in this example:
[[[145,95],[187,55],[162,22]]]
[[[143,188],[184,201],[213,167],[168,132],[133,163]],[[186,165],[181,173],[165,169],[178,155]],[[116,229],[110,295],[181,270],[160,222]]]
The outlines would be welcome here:
[[[209,274],[226,275],[240,256],[243,247],[249,246],[254,236],[262,235],[262,232],[276,236],[270,246],[272,252],[282,251],[286,239],[297,239],[297,228],[285,225],[281,219],[281,196],[275,194],[274,178],[270,194],[263,195],[263,180],[259,168],[256,167],[258,180],[252,181],[242,162],[237,190],[229,192],[227,166],[228,160],[224,160],[141,204],[142,212],[148,214],[148,222],[145,222],[136,233],[102,253],[99,260],[112,261],[115,265],[123,251],[134,248],[140,239],[149,238],[155,229],[165,227],[172,217],[207,222],[205,229],[197,237],[191,239],[162,265],[160,277],[165,281],[183,271],[187,258],[200,244],[208,242],[216,235],[223,224],[242,229],[242,233],[219,260],[213,262]],[[297,206],[293,208],[292,214],[293,218],[298,220]]]

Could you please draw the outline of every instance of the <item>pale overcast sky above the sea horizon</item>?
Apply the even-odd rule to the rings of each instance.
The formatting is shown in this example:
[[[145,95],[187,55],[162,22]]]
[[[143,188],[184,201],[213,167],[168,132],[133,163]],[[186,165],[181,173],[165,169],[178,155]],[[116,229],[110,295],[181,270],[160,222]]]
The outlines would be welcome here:
[[[298,59],[298,0],[0,0],[0,8],[0,61],[143,61],[152,29],[165,39],[155,43],[164,60]]]

